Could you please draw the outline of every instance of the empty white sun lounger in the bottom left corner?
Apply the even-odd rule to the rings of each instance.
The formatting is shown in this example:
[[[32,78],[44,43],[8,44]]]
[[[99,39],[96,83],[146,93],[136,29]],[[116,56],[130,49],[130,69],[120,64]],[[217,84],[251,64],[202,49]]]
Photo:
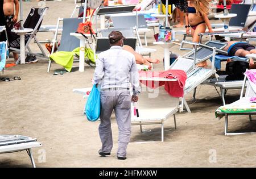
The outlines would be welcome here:
[[[41,146],[42,144],[36,141],[35,138],[21,135],[0,135],[0,153],[27,151],[33,168],[36,166],[32,155],[32,148]]]

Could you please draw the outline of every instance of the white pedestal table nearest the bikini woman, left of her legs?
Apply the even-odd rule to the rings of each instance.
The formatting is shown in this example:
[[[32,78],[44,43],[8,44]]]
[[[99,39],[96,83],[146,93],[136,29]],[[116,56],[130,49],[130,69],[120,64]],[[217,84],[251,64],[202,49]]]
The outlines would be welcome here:
[[[180,45],[179,41],[154,41],[153,44],[164,48],[164,70],[168,70],[170,68],[170,48],[174,45]]]

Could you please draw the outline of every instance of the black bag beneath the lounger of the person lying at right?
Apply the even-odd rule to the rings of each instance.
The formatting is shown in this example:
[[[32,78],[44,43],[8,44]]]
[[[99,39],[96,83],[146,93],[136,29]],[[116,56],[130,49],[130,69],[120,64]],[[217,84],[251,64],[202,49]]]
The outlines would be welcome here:
[[[249,69],[249,63],[246,61],[230,61],[226,63],[226,80],[243,80],[245,77],[243,73],[245,73],[246,69]]]

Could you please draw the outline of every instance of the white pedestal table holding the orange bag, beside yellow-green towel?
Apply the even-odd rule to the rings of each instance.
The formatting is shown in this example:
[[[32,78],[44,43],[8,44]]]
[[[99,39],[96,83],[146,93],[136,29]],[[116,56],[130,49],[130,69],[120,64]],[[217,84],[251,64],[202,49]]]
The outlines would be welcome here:
[[[71,36],[75,36],[77,39],[80,40],[80,56],[79,56],[79,72],[84,72],[84,52],[85,52],[85,43],[86,39],[81,34],[72,32],[70,33]],[[85,34],[85,36],[90,37],[90,34]],[[93,52],[95,52],[93,50]]]

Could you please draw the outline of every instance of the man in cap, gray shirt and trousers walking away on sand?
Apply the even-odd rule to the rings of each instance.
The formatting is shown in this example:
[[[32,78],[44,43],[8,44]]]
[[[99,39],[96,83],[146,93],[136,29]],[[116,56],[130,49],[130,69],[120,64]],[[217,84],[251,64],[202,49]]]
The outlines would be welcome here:
[[[109,34],[110,49],[98,55],[94,84],[101,84],[101,123],[98,127],[102,147],[98,153],[109,156],[113,147],[110,117],[115,110],[118,125],[117,159],[126,159],[126,148],[131,135],[131,101],[138,101],[141,91],[135,56],[122,49],[121,32]],[[130,95],[130,82],[133,95]]]

